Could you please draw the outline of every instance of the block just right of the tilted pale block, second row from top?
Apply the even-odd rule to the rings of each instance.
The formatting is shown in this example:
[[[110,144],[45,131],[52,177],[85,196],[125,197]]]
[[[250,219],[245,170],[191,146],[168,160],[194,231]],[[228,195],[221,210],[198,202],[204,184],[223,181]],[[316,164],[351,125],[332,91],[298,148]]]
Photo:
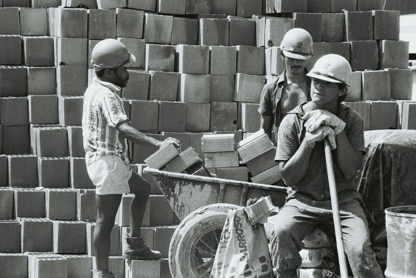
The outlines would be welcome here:
[[[196,19],[173,17],[171,44],[198,44],[198,24]]]

